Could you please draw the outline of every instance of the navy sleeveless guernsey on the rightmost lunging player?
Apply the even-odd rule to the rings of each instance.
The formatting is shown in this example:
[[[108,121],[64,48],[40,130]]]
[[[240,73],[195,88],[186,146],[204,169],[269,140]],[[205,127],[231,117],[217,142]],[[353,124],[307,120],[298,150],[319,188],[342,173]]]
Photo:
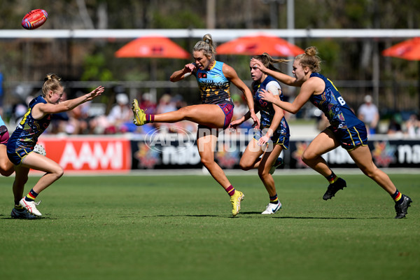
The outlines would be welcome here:
[[[310,77],[321,78],[325,83],[325,89],[321,94],[312,94],[309,101],[325,113],[335,129],[354,127],[363,124],[361,120],[347,106],[337,87],[320,73],[311,73]]]

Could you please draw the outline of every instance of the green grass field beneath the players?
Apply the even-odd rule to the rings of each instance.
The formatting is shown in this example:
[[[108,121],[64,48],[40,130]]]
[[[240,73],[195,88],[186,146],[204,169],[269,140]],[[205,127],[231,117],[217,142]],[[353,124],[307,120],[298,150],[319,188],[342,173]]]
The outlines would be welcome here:
[[[276,174],[283,209],[262,216],[258,176],[229,176],[246,196],[232,218],[210,176],[64,176],[36,221],[10,218],[2,177],[0,279],[419,279],[420,175],[391,175],[414,201],[401,220],[373,181],[343,177],[325,202],[321,176]]]

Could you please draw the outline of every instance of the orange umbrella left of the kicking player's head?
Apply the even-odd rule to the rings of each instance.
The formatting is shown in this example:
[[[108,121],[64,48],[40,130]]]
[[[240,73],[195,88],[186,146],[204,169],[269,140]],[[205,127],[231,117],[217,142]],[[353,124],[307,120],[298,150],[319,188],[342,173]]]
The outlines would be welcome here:
[[[116,57],[188,59],[190,54],[169,38],[154,35],[137,38],[116,51]]]

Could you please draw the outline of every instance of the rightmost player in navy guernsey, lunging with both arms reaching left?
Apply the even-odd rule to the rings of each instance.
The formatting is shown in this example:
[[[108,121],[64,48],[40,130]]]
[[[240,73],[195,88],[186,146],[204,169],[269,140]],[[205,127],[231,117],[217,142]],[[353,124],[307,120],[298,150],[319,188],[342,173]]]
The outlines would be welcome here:
[[[404,218],[412,200],[402,195],[389,179],[389,176],[374,165],[372,154],[367,147],[367,131],[365,124],[347,106],[335,85],[320,73],[321,59],[315,47],[309,47],[301,55],[295,57],[293,74],[295,77],[267,69],[258,60],[253,59],[256,66],[280,80],[286,85],[300,87],[300,92],[293,103],[275,99],[272,94],[263,90],[262,99],[272,102],[290,113],[297,113],[309,100],[318,107],[330,121],[330,127],[318,134],[302,155],[302,160],[319,174],[325,176],[330,183],[323,195],[323,200],[334,197],[338,190],[346,187],[346,181],[335,176],[321,155],[342,146],[356,162],[360,170],[386,190],[395,201],[395,218]]]

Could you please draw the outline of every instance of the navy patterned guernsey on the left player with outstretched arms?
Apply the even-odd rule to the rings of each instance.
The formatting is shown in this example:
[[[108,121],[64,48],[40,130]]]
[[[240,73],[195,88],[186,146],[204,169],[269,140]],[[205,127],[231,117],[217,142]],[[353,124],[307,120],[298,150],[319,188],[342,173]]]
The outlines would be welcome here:
[[[41,95],[34,98],[29,103],[27,113],[25,113],[25,116],[23,116],[18,127],[16,127],[16,130],[10,136],[7,144],[7,153],[15,153],[15,151],[20,149],[33,150],[38,141],[38,137],[46,130],[48,125],[50,125],[51,114],[44,116],[40,120],[36,120],[32,117],[31,111],[34,106],[39,103],[47,103]]]

